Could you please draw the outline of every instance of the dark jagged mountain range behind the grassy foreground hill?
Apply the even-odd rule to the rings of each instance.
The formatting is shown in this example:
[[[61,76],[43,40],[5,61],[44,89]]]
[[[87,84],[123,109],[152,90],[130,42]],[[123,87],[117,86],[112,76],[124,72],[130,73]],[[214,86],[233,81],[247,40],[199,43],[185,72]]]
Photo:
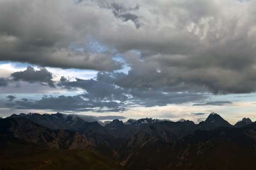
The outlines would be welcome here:
[[[0,119],[0,137],[55,149],[95,149],[127,170],[209,169],[207,164],[236,169],[237,162],[256,158],[256,124],[249,118],[231,125],[211,113],[199,124],[151,118],[129,119],[128,124],[115,119],[103,127],[76,115],[21,113]],[[238,160],[239,153],[247,155]],[[225,158],[229,164],[224,164]],[[213,165],[212,159],[219,163]],[[233,165],[234,160],[237,162]],[[244,169],[252,166],[248,163]]]

